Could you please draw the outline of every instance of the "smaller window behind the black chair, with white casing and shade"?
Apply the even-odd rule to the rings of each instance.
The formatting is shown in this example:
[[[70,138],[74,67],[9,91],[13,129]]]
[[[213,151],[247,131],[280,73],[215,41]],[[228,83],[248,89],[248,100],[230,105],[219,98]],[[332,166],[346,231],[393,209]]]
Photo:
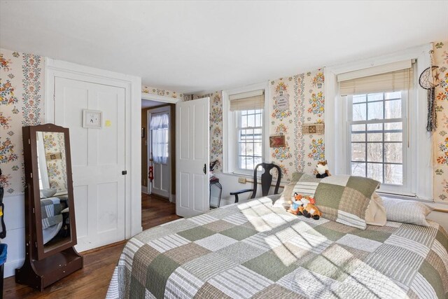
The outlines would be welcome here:
[[[252,176],[266,161],[268,83],[223,90],[223,172]]]

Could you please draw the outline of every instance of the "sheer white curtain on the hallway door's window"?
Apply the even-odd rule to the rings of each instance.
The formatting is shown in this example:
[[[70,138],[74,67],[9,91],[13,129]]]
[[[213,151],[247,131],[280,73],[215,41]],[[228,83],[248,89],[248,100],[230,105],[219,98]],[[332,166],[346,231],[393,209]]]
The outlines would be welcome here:
[[[149,130],[152,133],[153,160],[167,164],[168,160],[168,113],[151,115]]]

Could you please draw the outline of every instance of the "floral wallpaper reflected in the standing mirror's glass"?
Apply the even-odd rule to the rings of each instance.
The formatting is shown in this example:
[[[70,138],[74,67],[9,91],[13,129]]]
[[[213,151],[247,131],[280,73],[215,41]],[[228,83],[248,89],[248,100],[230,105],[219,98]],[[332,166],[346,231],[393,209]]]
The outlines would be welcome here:
[[[43,148],[45,157],[51,154],[56,156],[55,159],[46,159],[50,188],[57,189],[58,193],[66,192],[67,176],[64,133],[43,132]]]

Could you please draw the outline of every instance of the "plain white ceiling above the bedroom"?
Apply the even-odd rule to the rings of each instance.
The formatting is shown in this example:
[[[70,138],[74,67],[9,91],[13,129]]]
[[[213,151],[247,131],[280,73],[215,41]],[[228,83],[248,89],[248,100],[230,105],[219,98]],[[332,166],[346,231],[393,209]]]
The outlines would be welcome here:
[[[0,46],[200,93],[448,40],[448,1],[1,1]]]

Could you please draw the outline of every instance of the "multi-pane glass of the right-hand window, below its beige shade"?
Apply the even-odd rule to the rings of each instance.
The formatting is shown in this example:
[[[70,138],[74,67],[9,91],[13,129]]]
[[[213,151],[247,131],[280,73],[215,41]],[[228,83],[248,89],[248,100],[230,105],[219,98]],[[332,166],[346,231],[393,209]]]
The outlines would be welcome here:
[[[381,184],[406,185],[407,91],[349,95],[350,174]]]

